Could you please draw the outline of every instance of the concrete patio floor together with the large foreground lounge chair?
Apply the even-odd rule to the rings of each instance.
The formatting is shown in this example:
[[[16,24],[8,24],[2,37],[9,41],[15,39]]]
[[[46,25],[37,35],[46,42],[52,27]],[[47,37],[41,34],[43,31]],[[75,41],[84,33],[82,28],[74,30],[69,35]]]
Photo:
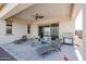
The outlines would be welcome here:
[[[22,43],[16,43],[15,40],[7,44],[1,44],[0,47],[16,60],[62,61],[64,55],[69,55],[71,61],[77,60],[74,46],[63,44],[59,38],[51,40],[50,43],[42,43],[42,41],[37,38],[27,39]]]

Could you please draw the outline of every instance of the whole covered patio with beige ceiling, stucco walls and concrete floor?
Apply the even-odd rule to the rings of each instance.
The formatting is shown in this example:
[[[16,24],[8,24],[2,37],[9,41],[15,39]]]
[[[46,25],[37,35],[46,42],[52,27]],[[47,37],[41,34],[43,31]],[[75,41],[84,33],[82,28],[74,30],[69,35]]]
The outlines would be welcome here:
[[[67,56],[70,61],[82,60],[74,39],[75,18],[81,10],[81,4],[8,3],[1,7],[0,47],[1,51],[4,51],[7,55],[10,54],[12,60],[64,61],[64,56]],[[66,34],[72,36],[64,38],[63,35]],[[13,42],[22,42],[22,36],[26,36],[27,40],[19,44]],[[50,51],[42,57],[36,51],[42,44],[33,46],[33,41],[36,38],[42,40],[46,37],[49,38],[48,42],[61,39],[62,43],[65,41],[66,43],[61,46],[61,51]]]

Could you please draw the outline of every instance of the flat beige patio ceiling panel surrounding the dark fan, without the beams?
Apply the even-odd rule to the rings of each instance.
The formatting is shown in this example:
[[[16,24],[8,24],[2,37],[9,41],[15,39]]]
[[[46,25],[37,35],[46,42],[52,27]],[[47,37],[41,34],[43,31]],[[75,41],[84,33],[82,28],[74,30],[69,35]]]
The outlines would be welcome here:
[[[35,15],[38,13],[39,15],[45,16],[40,20],[57,17],[57,16],[70,16],[71,14],[71,4],[70,3],[36,3],[22,12],[17,13],[15,16],[21,17],[28,21],[35,21]]]

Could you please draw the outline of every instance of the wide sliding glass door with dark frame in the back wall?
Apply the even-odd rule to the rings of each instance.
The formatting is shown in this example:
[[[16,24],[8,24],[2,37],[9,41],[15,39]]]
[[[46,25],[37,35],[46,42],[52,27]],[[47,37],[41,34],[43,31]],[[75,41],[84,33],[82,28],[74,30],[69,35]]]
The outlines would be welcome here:
[[[52,40],[59,38],[59,24],[39,26],[39,36],[40,38],[44,38],[45,36],[49,36],[51,37]]]

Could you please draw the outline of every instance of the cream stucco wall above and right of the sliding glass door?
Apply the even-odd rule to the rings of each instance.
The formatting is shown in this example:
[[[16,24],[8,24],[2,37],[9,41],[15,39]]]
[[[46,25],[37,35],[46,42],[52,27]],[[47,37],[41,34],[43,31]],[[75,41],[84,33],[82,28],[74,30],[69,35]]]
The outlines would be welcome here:
[[[67,17],[61,18],[50,18],[46,21],[40,21],[35,23],[37,25],[49,25],[49,24],[59,24],[59,37],[62,37],[64,33],[72,33],[75,35],[75,21]]]

